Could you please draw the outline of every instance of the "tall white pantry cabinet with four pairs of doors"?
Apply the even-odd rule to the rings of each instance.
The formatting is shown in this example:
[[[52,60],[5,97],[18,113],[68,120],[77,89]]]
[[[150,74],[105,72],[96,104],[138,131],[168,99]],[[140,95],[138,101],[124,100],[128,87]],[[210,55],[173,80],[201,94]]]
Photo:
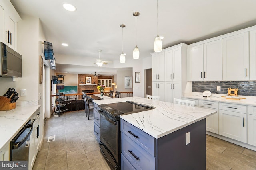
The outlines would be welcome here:
[[[186,51],[184,43],[152,53],[152,92],[161,101],[181,99],[186,87]]]

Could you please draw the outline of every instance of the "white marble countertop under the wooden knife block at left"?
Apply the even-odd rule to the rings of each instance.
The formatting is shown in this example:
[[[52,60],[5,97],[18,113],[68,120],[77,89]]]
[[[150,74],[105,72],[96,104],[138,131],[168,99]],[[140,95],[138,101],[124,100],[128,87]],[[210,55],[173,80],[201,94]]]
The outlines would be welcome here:
[[[16,109],[0,111],[0,149],[10,143],[40,106],[36,100],[17,101]]]

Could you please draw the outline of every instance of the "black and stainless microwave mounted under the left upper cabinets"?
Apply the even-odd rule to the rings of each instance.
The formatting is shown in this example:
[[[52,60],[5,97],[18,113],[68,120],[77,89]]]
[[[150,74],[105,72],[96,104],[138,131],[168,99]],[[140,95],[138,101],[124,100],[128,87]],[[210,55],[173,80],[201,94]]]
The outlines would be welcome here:
[[[22,55],[0,42],[0,77],[22,77]]]

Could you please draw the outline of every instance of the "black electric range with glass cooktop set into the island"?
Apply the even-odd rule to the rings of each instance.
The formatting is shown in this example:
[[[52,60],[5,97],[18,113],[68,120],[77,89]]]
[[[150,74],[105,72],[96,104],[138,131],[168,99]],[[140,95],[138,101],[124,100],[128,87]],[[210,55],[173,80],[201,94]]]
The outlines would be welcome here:
[[[127,101],[102,104],[100,108],[100,151],[114,170],[120,170],[121,131],[119,115],[154,109],[154,107]]]

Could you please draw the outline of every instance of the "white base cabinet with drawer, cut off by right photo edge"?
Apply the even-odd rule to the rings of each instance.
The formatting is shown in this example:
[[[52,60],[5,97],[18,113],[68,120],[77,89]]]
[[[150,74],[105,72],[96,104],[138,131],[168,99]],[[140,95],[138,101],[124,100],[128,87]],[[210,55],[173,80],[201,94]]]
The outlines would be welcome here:
[[[256,146],[256,107],[247,106],[247,143]]]

